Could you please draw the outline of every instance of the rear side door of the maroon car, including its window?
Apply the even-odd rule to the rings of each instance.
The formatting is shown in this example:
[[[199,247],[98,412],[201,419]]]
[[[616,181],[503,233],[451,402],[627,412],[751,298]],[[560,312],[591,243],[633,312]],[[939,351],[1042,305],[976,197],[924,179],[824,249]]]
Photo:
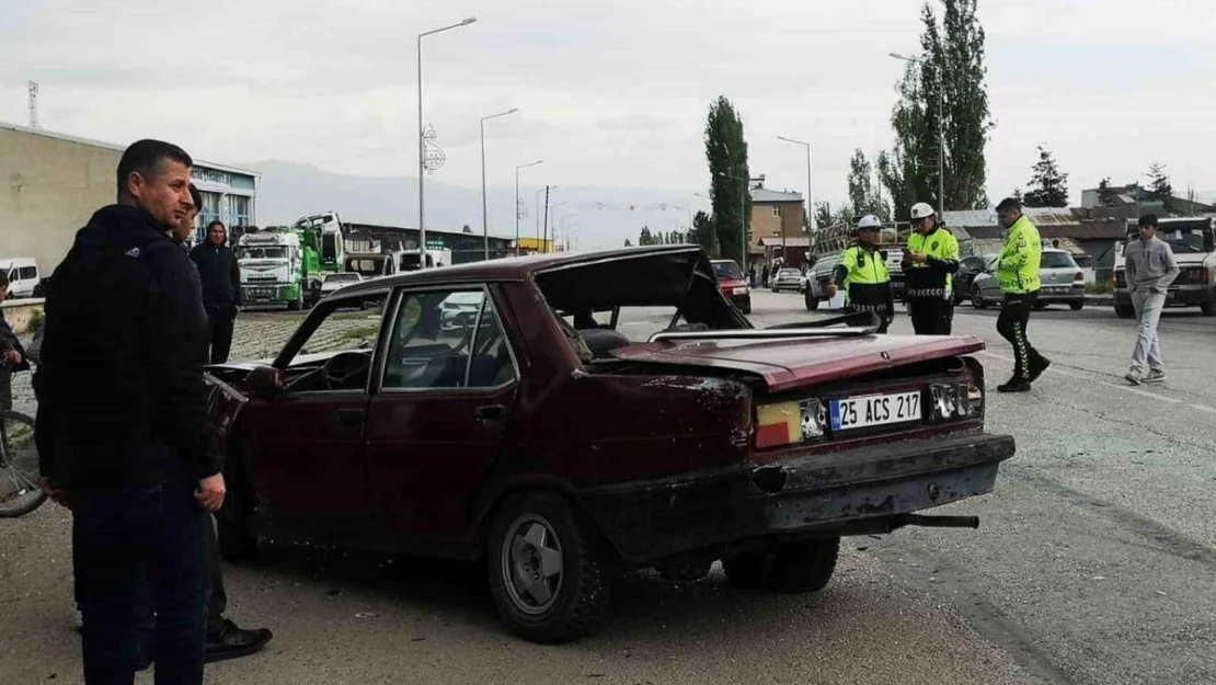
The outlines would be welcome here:
[[[396,301],[367,414],[372,516],[393,535],[460,537],[499,454],[519,372],[492,286]]]

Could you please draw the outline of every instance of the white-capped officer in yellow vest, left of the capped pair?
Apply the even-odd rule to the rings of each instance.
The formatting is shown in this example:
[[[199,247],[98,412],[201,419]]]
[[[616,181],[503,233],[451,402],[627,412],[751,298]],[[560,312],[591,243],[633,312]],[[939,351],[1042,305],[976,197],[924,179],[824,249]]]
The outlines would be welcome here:
[[[848,298],[845,311],[873,311],[880,321],[878,332],[885,333],[895,316],[895,298],[886,258],[878,251],[882,230],[882,221],[872,214],[857,221],[857,245],[844,251],[832,270],[827,294],[834,297],[837,288],[843,288]]]

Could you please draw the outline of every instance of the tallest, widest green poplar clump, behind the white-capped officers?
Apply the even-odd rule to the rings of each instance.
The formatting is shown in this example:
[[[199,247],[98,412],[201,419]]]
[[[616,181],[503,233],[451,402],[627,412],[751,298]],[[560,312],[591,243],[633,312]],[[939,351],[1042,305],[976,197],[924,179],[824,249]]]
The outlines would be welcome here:
[[[984,150],[992,120],[984,82],[984,27],[975,15],[976,0],[942,0],[942,6],[940,24],[930,4],[921,11],[922,55],[918,63],[906,67],[896,86],[895,145],[878,161],[879,178],[900,220],[907,219],[916,202],[942,204],[941,210],[987,206]],[[938,197],[939,118],[944,200]]]

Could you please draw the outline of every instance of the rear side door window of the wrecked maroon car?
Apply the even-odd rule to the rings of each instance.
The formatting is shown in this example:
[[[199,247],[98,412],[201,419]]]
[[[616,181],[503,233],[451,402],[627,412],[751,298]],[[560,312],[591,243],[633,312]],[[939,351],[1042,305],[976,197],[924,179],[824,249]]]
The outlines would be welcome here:
[[[485,290],[407,292],[384,364],[385,389],[497,387],[514,363]]]

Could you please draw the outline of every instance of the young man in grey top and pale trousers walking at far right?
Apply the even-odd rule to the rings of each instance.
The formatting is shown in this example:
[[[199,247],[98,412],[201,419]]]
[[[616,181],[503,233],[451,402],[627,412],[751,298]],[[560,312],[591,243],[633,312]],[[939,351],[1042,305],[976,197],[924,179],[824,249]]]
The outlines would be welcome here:
[[[1127,291],[1136,307],[1139,333],[1132,350],[1132,367],[1125,378],[1138,386],[1165,381],[1165,363],[1161,361],[1161,342],[1156,335],[1156,322],[1161,319],[1166,292],[1178,277],[1178,265],[1173,251],[1156,237],[1156,217],[1144,214],[1139,220],[1139,240],[1127,243],[1124,258],[1127,269]],[[1145,365],[1148,374],[1144,372]]]

